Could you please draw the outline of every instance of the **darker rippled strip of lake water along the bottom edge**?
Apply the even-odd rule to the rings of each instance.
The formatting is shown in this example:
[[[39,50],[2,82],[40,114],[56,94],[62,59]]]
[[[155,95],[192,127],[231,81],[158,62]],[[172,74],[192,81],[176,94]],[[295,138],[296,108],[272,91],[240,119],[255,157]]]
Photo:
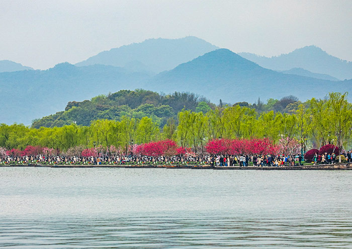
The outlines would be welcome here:
[[[2,247],[350,248],[352,220],[138,217],[2,220]]]

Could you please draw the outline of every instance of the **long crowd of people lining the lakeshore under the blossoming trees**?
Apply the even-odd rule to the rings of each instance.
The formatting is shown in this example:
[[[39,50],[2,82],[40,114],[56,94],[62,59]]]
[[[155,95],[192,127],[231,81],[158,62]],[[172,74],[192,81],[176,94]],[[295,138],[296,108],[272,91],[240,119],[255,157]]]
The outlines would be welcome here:
[[[351,152],[343,152],[347,162],[352,162]],[[336,155],[315,154],[312,162],[316,164],[334,164]],[[137,156],[137,155],[100,155],[82,156],[5,156],[0,157],[0,165],[42,164],[42,165],[210,165],[212,167],[284,167],[298,166],[304,162],[304,156],[296,155],[178,155],[178,156]]]

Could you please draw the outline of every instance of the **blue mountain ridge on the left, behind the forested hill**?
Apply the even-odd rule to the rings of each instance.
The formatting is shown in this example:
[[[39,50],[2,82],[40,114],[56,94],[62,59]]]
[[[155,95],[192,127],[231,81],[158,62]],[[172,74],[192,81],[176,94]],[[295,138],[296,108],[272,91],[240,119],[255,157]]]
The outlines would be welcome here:
[[[149,75],[123,68],[61,63],[48,70],[0,73],[0,123],[23,122],[62,110],[68,101],[140,87]]]

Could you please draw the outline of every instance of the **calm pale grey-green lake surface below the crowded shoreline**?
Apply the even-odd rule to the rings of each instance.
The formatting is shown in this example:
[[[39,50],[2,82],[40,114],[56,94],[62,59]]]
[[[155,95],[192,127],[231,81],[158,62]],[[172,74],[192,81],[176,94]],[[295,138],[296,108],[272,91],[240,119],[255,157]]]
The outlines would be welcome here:
[[[352,171],[0,167],[0,248],[352,248]]]

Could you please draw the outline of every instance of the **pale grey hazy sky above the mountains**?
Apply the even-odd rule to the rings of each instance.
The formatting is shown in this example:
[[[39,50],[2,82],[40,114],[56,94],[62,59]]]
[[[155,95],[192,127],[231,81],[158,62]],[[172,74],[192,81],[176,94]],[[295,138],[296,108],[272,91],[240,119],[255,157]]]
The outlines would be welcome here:
[[[352,61],[352,0],[0,0],[0,60],[47,69],[149,38],[197,36],[273,56],[316,45]]]

